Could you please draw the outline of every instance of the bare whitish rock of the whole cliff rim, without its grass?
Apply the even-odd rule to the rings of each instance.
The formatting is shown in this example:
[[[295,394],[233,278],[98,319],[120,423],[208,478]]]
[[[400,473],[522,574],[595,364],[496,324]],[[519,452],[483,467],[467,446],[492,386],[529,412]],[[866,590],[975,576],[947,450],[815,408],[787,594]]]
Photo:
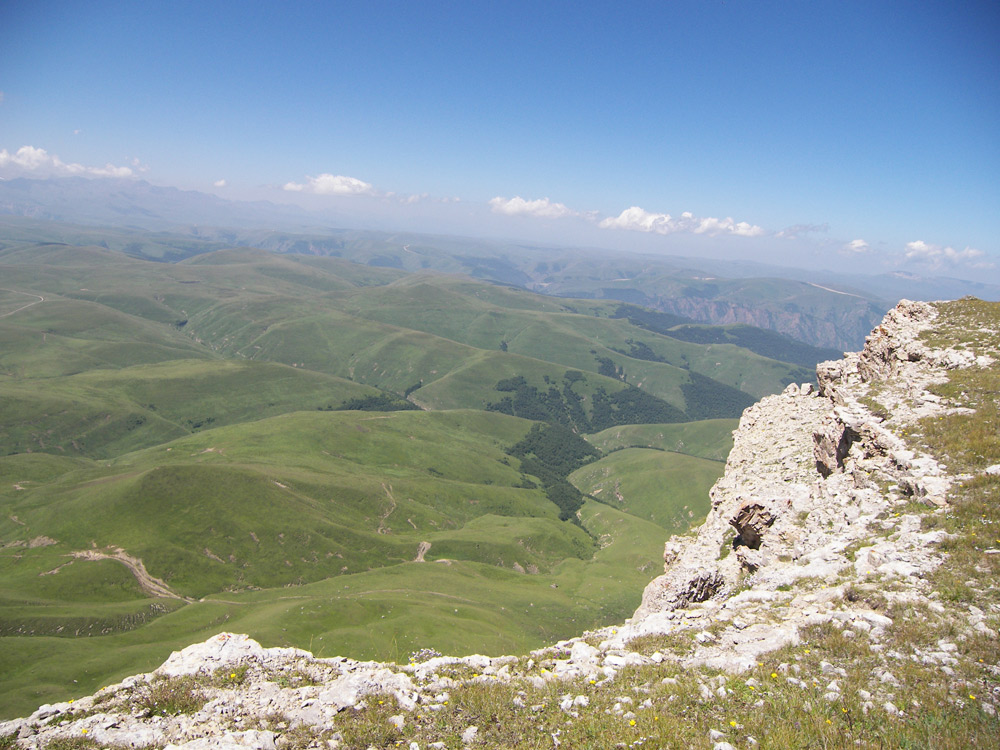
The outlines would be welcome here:
[[[540,688],[580,680],[616,689],[621,670],[663,662],[740,673],[763,654],[797,643],[808,626],[828,624],[845,637],[866,639],[878,652],[893,621],[887,608],[878,611],[853,592],[878,582],[885,600],[944,610],[926,576],[944,559],[940,547],[948,534],[922,531],[921,513],[946,506],[959,479],[902,435],[918,419],[965,408],[928,391],[946,379],[948,370],[992,362],[984,354],[923,343],[921,334],[933,327],[936,315],[933,305],[903,301],[868,337],[862,352],[818,368],[818,388],[790,385],[747,409],[725,475],[712,489],[708,518],[696,531],[666,544],[664,574],[647,586],[635,615],[617,628],[530,656],[430,655],[405,665],[317,659],[223,633],[173,654],[151,674],[0,724],[0,737],[16,737],[23,748],[86,737],[97,746],[270,749],[287,744],[285,730],[328,727],[337,714],[360,710],[372,696],[392,697],[400,713],[389,721],[402,727],[410,714],[441,710],[449,691],[463,684],[515,682]],[[986,472],[1000,473],[1000,466]],[[967,609],[963,628],[997,637],[990,627],[996,613]],[[674,635],[684,648],[633,650],[643,636]],[[919,658],[948,670],[955,651],[943,639]],[[890,662],[886,665],[876,683],[891,686],[895,678]],[[821,666],[824,673],[844,671]],[[994,668],[1000,672],[1000,665]],[[832,677],[828,700],[839,698],[837,675]],[[154,710],[157,700],[171,699],[155,697],[156,691],[185,679],[200,696],[195,710],[178,715]],[[705,678],[702,698],[725,693],[712,679]],[[871,696],[865,692],[865,697]],[[588,700],[567,693],[560,709],[576,715]],[[990,716],[995,714],[992,700],[987,694],[980,701]],[[628,710],[627,704],[621,708],[625,701],[630,699],[623,698],[611,712]],[[868,700],[864,710],[875,705]],[[888,701],[879,708],[903,713]],[[260,729],[259,717],[265,715],[279,716],[280,722]],[[478,732],[467,727],[455,741],[474,745]],[[553,741],[559,745],[555,734]],[[319,743],[306,746],[340,747],[341,738],[333,734]],[[410,750],[414,746],[419,748],[412,742]]]

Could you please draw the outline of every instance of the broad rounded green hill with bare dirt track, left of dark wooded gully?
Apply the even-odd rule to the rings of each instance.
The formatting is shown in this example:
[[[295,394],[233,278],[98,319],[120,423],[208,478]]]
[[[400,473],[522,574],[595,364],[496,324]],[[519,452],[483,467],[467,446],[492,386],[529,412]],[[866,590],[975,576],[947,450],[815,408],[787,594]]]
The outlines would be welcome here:
[[[586,535],[501,463],[502,441],[528,426],[454,412],[285,415],[5,493],[20,524],[0,523],[7,538],[44,533],[66,551],[124,547],[196,597],[404,562],[424,540],[508,566],[589,556]],[[484,515],[524,520],[466,528]]]

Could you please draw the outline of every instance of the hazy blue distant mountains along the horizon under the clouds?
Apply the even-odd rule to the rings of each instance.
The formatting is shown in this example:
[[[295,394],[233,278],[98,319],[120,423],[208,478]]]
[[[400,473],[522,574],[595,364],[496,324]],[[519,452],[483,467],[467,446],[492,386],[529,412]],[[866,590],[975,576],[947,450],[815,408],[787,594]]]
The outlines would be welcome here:
[[[101,241],[135,257],[175,262],[239,246],[462,273],[550,295],[618,300],[703,323],[767,328],[839,351],[859,348],[902,297],[1000,299],[1000,287],[912,274],[831,275],[745,261],[351,229],[349,216],[229,201],[138,180],[0,181],[0,214],[10,217],[8,234],[24,237],[32,227],[44,230],[39,237],[51,234],[50,226],[30,220],[83,225],[67,227],[70,238],[86,227],[111,227],[111,237]]]

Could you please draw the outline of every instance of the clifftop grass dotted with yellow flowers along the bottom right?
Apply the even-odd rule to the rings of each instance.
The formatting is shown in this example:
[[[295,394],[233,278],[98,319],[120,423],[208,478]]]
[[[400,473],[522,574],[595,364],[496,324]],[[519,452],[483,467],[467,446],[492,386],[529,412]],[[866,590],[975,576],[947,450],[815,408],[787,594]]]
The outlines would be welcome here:
[[[553,738],[566,747],[700,747],[713,730],[737,747],[993,746],[998,722],[968,698],[949,701],[935,693],[938,701],[914,706],[904,685],[893,689],[903,714],[887,720],[881,705],[866,705],[860,693],[867,689],[887,699],[881,683],[873,684],[875,653],[833,628],[804,635],[803,644],[736,677],[679,672],[665,663],[623,669],[607,683],[545,681],[538,665],[529,670],[519,663],[517,672],[542,676],[541,685],[473,679],[449,689],[447,702],[408,714],[390,696],[373,695],[327,731],[339,733],[347,747],[443,742],[460,748],[472,726],[476,745],[484,748],[550,748]],[[648,649],[654,642],[638,645]],[[837,678],[838,697],[831,701],[824,697],[831,677],[820,662],[833,659],[859,662]],[[390,723],[401,713],[402,727]]]

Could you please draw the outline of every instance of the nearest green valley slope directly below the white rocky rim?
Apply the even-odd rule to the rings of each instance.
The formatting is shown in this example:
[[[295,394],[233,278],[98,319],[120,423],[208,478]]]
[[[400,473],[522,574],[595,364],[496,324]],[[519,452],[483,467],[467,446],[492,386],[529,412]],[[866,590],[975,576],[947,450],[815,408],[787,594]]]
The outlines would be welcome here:
[[[549,574],[470,561],[407,563],[294,588],[219,594],[109,635],[0,638],[3,715],[23,714],[39,703],[152,669],[171,650],[220,630],[323,656],[404,660],[428,647],[517,653],[615,622],[637,605],[642,586],[659,569],[663,531],[592,501],[581,514],[605,546],[592,560],[568,558]],[[150,604],[176,607],[169,600],[129,604],[129,612]],[[108,606],[98,612],[110,616]],[[59,614],[82,611],[93,611],[93,605]]]

